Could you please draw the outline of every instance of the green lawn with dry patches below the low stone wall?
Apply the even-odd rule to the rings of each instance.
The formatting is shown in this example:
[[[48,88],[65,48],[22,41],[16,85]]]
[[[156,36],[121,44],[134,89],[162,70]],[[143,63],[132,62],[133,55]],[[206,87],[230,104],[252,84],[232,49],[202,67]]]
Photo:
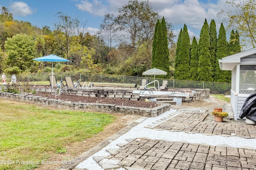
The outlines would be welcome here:
[[[52,110],[7,100],[1,100],[0,107],[0,160],[9,161],[1,162],[0,170],[36,168],[49,152],[68,152],[66,144],[92,137],[115,119],[105,113]]]

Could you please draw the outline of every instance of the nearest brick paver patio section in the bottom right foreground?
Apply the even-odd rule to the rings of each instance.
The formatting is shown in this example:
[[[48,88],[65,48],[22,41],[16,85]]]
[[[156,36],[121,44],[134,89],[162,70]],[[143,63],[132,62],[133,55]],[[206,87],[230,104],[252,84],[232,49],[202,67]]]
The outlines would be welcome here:
[[[130,148],[136,147],[137,150],[129,152]],[[253,149],[140,138],[128,143],[106,159],[121,160],[117,165],[151,170],[256,169],[256,150]]]

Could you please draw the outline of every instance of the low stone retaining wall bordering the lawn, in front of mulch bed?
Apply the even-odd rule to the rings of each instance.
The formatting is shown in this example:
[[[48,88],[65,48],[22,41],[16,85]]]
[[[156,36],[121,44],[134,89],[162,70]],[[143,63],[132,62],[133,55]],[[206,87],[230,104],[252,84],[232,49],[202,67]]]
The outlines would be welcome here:
[[[74,92],[74,91],[71,90],[70,92]],[[40,96],[34,96],[32,94],[15,94],[15,93],[8,93],[8,92],[0,92],[0,97],[8,100],[42,104],[44,106],[54,106],[54,107],[59,107],[61,109],[78,109],[78,110],[93,111],[93,112],[120,113],[123,115],[141,115],[145,117],[156,117],[171,109],[170,104],[162,104],[162,103],[159,103],[159,106],[154,108],[128,107],[128,106],[116,106],[111,104],[73,103],[73,102],[66,102],[66,101],[61,101],[56,99],[43,98]]]

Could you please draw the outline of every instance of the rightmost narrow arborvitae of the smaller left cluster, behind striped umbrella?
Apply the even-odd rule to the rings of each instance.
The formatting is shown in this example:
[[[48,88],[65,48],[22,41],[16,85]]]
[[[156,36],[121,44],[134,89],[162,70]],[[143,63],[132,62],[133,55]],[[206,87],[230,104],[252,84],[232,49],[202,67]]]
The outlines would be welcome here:
[[[169,49],[168,49],[168,38],[167,38],[167,29],[166,29],[166,22],[164,17],[161,21],[162,24],[162,33],[163,33],[163,47],[164,47],[164,71],[167,72],[166,78],[170,78],[170,66],[169,66]]]

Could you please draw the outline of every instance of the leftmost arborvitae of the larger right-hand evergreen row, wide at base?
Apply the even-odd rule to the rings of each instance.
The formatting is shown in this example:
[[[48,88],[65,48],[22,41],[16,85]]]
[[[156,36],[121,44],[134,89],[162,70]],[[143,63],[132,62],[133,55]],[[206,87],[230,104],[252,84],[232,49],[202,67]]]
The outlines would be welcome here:
[[[176,79],[178,80],[189,80],[190,79],[190,39],[188,35],[187,26],[184,24],[183,31],[181,34],[180,41],[180,64],[176,70]]]

